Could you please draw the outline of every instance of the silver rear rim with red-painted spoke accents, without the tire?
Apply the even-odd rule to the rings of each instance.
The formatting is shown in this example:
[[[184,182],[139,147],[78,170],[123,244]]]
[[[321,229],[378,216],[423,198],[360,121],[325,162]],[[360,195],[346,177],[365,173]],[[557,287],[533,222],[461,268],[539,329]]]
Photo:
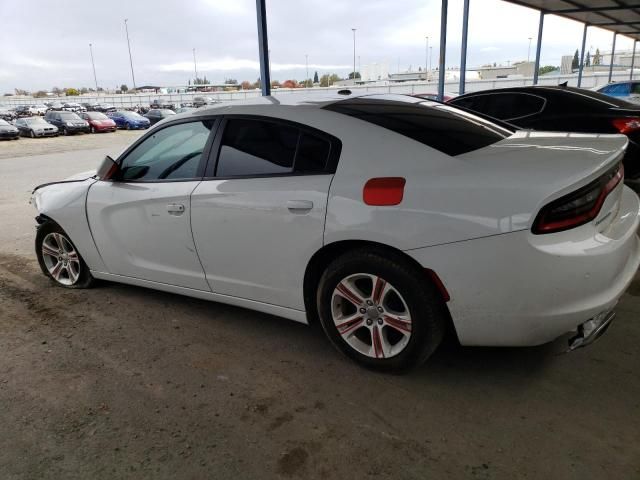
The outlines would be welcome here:
[[[331,296],[331,315],[342,339],[370,358],[390,358],[411,338],[407,302],[382,277],[356,273],[342,279]]]

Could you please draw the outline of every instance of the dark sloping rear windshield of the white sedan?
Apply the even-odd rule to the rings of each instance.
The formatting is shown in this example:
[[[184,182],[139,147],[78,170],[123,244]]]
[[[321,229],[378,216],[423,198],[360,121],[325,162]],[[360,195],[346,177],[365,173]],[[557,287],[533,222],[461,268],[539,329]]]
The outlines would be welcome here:
[[[387,128],[451,156],[487,147],[513,133],[455,107],[409,97],[361,97],[324,108]]]

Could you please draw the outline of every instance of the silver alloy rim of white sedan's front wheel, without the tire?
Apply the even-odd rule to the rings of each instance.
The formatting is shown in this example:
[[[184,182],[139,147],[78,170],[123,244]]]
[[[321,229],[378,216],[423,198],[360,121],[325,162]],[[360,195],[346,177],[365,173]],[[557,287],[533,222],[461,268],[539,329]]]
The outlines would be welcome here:
[[[71,241],[53,232],[42,241],[42,258],[51,277],[62,285],[73,285],[80,278],[80,256]]]

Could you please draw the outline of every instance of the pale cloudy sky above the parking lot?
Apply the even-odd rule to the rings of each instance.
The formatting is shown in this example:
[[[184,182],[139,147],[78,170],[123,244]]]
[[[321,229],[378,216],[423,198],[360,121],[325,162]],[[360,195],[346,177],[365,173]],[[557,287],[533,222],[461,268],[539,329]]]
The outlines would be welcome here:
[[[437,62],[439,0],[267,0],[272,77],[346,75],[353,62],[351,28],[357,28],[360,63],[387,63],[389,70],[425,63],[428,35]],[[98,84],[131,86],[125,37],[128,19],[137,85],[184,85],[198,72],[212,82],[255,81],[258,46],[254,0],[0,0],[0,94],[94,85],[89,43]],[[525,60],[538,13],[501,0],[472,0],[468,65]],[[460,62],[462,0],[449,1],[447,65]],[[582,25],[547,17],[542,64],[559,65],[579,47]],[[609,50],[612,34],[590,29],[587,48]],[[618,39],[617,48],[632,41]]]

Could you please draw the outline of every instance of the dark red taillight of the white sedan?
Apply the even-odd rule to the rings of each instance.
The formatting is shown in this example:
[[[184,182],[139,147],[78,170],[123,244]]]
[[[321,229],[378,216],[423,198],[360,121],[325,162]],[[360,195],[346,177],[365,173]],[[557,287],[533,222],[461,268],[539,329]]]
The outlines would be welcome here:
[[[618,164],[589,185],[554,200],[540,210],[531,231],[536,235],[554,233],[589,223],[623,178],[624,167]]]

